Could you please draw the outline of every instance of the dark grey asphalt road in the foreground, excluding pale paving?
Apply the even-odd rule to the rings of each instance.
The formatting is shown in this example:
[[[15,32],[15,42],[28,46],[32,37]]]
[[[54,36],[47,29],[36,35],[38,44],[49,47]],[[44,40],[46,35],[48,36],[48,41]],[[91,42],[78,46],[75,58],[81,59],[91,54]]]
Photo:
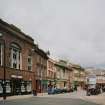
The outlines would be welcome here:
[[[3,105],[3,103],[0,103]],[[5,105],[98,105],[92,102],[83,101],[81,99],[68,99],[68,98],[29,98],[29,99],[17,99],[13,101],[7,101]]]

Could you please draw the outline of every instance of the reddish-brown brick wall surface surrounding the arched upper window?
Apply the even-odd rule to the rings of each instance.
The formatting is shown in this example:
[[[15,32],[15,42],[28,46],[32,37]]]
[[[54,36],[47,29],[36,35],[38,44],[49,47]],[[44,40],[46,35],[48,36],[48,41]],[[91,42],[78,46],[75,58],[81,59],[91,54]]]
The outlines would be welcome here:
[[[5,40],[5,44],[6,44],[6,79],[11,79],[11,75],[19,75],[22,76],[23,80],[32,80],[32,87],[33,89],[35,89],[35,67],[36,65],[35,63],[35,53],[32,53],[32,48],[34,47],[33,44],[31,44],[30,42],[28,43],[28,41],[25,41],[19,37],[17,37],[16,35],[12,34],[12,33],[7,33],[4,30],[1,30],[0,28],[0,32],[3,33],[3,39]],[[16,69],[12,69],[10,68],[10,54],[11,54],[11,50],[10,50],[10,45],[11,43],[16,43],[21,47],[21,57],[22,57],[22,67],[21,70],[16,70]],[[28,71],[28,66],[27,66],[27,58],[28,55],[32,53],[32,71]],[[3,68],[0,67],[0,79],[3,79]]]

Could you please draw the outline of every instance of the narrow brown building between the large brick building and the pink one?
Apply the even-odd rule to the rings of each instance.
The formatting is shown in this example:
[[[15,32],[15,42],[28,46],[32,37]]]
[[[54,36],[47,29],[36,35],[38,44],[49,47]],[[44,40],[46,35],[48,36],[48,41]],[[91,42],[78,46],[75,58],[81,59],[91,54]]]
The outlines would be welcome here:
[[[47,91],[47,54],[42,50],[36,49],[36,91],[43,93]]]

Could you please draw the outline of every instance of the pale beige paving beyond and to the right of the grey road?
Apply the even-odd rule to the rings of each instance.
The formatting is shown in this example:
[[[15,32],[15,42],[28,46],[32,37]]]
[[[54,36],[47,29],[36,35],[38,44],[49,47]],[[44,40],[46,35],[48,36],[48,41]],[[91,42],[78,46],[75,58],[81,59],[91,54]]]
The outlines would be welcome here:
[[[38,96],[38,97],[55,97],[55,98],[71,98],[71,99],[81,99],[84,101],[93,102],[100,105],[105,105],[105,92],[101,93],[99,95],[91,95],[86,96],[86,91],[79,90],[71,93],[66,94],[58,94],[58,95],[44,95],[44,96]]]

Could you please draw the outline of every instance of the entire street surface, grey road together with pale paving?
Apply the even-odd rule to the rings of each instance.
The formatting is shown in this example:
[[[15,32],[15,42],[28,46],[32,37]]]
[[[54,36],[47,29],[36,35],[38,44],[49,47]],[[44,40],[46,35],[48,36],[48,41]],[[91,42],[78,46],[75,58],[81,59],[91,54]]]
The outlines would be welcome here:
[[[86,96],[85,91],[78,91],[58,95],[18,96],[18,98],[8,98],[5,105],[105,105],[104,98],[105,94]],[[100,103],[99,100],[103,103]],[[0,105],[3,105],[2,101]]]

